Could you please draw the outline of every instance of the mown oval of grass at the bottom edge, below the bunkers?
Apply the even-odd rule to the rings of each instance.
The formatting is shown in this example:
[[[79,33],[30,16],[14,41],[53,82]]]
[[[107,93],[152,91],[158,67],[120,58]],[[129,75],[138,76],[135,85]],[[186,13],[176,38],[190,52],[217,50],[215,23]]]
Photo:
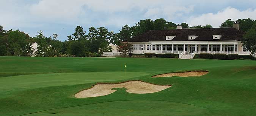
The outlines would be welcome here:
[[[39,113],[28,114],[26,116],[85,116],[87,114],[90,114],[90,116],[192,116],[202,115],[207,112],[209,112],[207,108],[198,107],[190,104],[182,104],[169,101],[132,100],[103,102],[77,107],[59,108],[54,110],[42,111]]]

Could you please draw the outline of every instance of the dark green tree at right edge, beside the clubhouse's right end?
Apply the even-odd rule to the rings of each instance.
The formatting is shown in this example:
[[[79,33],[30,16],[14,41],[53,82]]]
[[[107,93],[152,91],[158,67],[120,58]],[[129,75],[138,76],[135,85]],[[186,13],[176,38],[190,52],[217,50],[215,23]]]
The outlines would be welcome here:
[[[242,43],[251,54],[256,52],[256,23],[243,35]]]

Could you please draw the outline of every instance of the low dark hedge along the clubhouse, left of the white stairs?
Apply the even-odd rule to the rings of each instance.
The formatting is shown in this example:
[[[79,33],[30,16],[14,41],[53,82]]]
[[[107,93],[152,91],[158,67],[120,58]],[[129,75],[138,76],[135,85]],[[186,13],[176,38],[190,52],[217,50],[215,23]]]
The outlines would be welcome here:
[[[145,54],[129,54],[130,57],[161,57],[161,58],[179,58],[179,54],[153,54],[153,53],[145,53]]]

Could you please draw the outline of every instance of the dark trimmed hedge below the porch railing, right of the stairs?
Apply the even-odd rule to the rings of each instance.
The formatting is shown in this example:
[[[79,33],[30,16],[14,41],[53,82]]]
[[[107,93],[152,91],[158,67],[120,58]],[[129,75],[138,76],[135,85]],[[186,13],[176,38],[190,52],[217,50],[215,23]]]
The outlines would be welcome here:
[[[234,60],[234,59],[253,59],[251,55],[238,55],[238,54],[199,54],[197,56],[201,59],[220,59],[220,60]]]

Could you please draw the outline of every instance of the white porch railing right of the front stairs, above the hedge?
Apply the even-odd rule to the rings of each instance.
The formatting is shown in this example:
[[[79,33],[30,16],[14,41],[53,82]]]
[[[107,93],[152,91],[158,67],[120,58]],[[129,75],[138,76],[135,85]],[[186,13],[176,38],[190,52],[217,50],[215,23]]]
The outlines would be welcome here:
[[[239,54],[239,55],[250,55],[248,51],[196,51],[196,54],[209,53],[209,54]]]

